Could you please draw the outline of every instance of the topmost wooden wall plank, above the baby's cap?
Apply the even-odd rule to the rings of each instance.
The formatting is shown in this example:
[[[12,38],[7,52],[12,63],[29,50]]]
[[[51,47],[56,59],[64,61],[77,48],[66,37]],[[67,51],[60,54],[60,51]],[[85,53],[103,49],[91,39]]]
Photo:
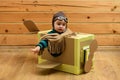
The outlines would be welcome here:
[[[58,11],[65,12],[117,12],[120,11],[118,0],[67,0],[67,1],[50,1],[50,0],[5,0],[1,1],[0,11]]]

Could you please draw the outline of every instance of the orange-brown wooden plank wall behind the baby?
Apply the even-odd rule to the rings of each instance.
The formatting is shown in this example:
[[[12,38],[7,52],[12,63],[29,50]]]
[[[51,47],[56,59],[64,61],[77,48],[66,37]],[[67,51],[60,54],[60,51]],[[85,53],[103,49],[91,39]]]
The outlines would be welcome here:
[[[40,30],[51,29],[55,12],[64,11],[69,28],[93,33],[99,45],[120,45],[119,0],[0,0],[0,45],[35,45],[23,20],[33,20]]]

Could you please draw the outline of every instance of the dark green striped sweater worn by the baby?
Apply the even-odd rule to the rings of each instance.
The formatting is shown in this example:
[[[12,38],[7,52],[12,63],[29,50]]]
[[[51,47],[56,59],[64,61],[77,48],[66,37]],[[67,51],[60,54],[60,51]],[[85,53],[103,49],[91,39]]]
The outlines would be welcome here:
[[[51,33],[62,34],[62,33],[57,32],[54,29],[52,29],[50,32],[48,32],[48,34],[51,34]],[[44,49],[48,46],[48,40],[41,40],[36,46],[40,46],[40,49]]]

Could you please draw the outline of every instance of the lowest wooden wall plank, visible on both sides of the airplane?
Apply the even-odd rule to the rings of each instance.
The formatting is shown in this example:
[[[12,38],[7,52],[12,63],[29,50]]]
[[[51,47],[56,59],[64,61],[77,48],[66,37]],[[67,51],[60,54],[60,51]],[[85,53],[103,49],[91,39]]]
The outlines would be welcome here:
[[[96,34],[95,39],[98,45],[120,45],[119,34]],[[0,45],[36,45],[38,43],[37,34],[0,34]]]

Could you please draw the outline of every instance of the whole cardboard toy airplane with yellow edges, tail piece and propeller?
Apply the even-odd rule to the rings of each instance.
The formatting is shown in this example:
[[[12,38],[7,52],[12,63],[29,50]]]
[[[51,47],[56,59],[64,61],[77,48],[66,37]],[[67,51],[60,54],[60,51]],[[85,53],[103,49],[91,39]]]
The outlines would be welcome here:
[[[23,24],[30,32],[38,32],[39,29],[32,20],[25,20]],[[50,30],[38,32],[38,38]],[[39,40],[38,39],[38,40]],[[97,42],[93,34],[76,33],[65,37],[65,51],[58,57],[53,57],[47,49],[38,56],[39,68],[54,68],[73,74],[89,72],[93,65],[94,52]]]

